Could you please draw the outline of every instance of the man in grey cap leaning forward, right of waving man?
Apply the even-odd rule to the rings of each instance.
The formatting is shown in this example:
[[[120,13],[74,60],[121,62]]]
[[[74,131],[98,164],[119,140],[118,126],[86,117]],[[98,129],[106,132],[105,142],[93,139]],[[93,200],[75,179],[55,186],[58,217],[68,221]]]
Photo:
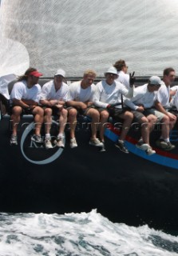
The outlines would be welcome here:
[[[161,80],[157,76],[149,78],[148,83],[138,86],[134,90],[133,98],[126,98],[125,105],[129,106],[133,111],[134,118],[141,124],[141,139],[136,144],[141,150],[145,150],[146,154],[156,153],[149,145],[149,134],[154,128],[157,119],[162,120],[164,114],[153,109],[156,91],[159,90]],[[156,114],[156,115],[155,115]],[[157,116],[157,118],[156,118]]]

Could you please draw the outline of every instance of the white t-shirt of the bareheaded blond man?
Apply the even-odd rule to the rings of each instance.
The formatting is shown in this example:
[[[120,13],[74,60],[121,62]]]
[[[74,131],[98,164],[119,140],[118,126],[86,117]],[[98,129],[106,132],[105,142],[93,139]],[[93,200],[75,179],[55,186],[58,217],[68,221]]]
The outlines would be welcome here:
[[[92,84],[86,89],[81,88],[81,81],[72,82],[69,86],[67,101],[92,102],[96,86]]]

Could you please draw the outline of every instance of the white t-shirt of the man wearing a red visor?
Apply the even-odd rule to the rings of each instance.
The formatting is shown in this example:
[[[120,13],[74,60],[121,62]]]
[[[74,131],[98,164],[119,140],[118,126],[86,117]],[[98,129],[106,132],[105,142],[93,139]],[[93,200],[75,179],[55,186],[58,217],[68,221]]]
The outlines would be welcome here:
[[[34,102],[39,102],[41,90],[42,88],[39,84],[36,84],[31,88],[28,88],[26,80],[16,82],[10,94],[10,102],[12,103],[13,98],[16,98],[18,100],[25,99],[33,100]]]

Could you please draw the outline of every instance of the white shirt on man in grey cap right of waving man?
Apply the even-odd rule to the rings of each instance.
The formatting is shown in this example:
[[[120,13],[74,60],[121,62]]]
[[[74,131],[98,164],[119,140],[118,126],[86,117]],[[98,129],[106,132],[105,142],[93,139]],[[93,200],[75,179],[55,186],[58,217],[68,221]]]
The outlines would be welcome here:
[[[132,110],[136,110],[139,104],[143,104],[144,108],[150,108],[154,105],[156,91],[148,91],[148,83],[143,86],[138,86],[134,90],[133,98],[126,98],[125,105],[129,106]]]

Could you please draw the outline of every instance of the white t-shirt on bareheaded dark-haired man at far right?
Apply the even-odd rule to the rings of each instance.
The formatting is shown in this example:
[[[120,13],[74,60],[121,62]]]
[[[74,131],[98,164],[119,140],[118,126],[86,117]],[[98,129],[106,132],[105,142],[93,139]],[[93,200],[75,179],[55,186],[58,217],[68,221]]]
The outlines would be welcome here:
[[[170,98],[170,86],[166,86],[164,82],[161,82],[160,89],[156,94],[156,101],[160,102],[160,104],[164,107],[169,107],[169,98]]]

